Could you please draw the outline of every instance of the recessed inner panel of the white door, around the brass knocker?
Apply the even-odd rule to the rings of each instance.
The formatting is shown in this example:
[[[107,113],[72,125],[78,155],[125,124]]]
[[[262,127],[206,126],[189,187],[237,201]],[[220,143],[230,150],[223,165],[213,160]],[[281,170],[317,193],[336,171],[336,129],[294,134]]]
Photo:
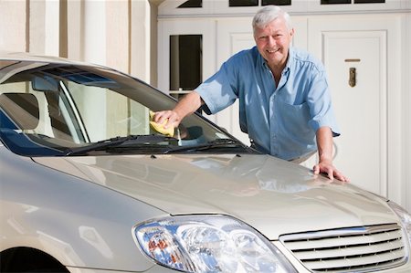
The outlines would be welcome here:
[[[342,131],[334,163],[353,184],[386,195],[385,31],[324,32],[322,39]]]

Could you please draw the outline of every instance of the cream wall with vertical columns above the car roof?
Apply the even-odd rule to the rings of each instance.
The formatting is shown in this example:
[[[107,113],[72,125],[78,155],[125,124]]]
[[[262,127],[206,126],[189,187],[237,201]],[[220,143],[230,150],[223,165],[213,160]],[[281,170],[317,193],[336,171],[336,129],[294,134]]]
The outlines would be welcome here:
[[[149,0],[1,0],[0,49],[89,61],[149,81],[151,6]]]

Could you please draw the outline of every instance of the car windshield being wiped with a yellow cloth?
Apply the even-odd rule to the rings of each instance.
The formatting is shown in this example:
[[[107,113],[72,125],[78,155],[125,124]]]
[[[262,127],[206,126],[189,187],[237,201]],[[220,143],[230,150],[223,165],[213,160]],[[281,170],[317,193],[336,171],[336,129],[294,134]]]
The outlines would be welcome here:
[[[251,152],[198,114],[163,136],[150,125],[150,112],[175,103],[109,68],[0,62],[0,138],[18,154]]]

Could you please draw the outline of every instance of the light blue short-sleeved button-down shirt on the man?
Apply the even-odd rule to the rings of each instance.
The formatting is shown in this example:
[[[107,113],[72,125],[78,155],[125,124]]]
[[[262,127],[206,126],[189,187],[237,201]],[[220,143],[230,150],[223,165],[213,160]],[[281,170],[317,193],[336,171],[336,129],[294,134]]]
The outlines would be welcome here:
[[[195,89],[214,114],[239,99],[239,123],[261,152],[291,160],[317,150],[315,132],[339,130],[325,70],[319,60],[290,47],[279,85],[257,47],[229,58]]]

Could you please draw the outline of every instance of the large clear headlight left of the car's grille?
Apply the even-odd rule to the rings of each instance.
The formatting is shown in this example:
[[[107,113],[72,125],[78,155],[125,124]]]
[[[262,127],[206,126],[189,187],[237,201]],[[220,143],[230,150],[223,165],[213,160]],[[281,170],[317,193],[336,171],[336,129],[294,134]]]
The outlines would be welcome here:
[[[188,272],[296,272],[250,226],[224,215],[184,215],[135,226],[143,252],[168,268]]]

